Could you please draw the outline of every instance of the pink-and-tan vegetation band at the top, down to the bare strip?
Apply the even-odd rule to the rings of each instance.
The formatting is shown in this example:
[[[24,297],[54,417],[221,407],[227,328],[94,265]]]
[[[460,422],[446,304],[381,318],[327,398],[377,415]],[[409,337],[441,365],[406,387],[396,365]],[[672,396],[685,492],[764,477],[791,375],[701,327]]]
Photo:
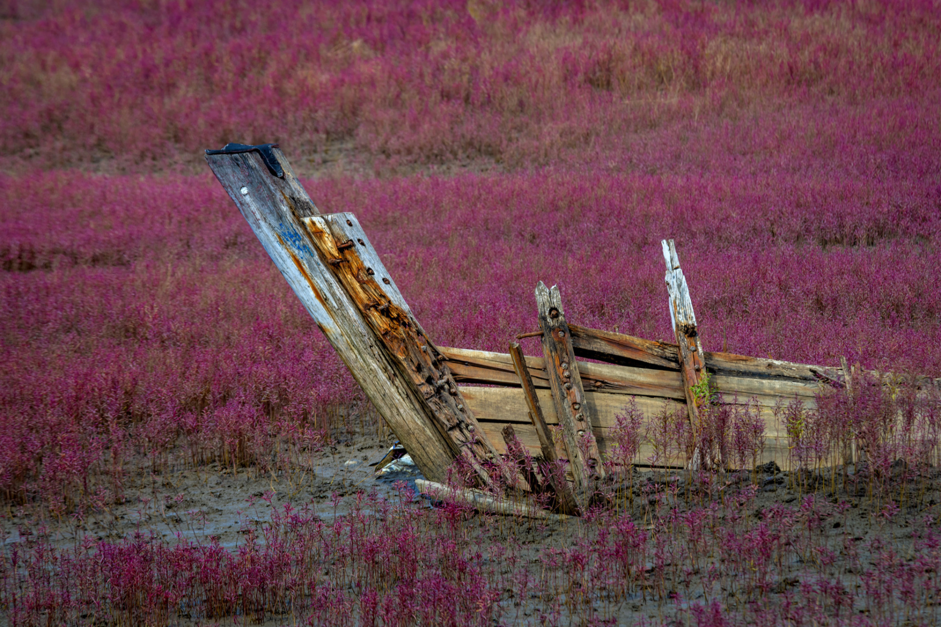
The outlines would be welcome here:
[[[727,124],[776,151],[788,126],[813,136],[839,109],[912,133],[878,112],[936,102],[941,75],[938,9],[919,0],[20,0],[8,13],[0,152],[16,167],[201,169],[199,149],[233,139],[316,165],[352,150],[367,171],[604,165],[612,149],[646,161],[651,130],[681,148]],[[780,113],[774,127],[759,110]]]

